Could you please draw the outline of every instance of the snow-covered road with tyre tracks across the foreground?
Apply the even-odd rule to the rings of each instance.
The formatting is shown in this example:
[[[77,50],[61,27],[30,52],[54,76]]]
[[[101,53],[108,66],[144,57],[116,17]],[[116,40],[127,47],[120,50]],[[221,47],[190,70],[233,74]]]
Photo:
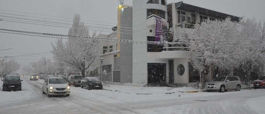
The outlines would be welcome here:
[[[0,91],[0,114],[265,113],[265,89],[138,95],[71,87],[69,97],[48,98],[43,80],[22,78],[22,91]]]

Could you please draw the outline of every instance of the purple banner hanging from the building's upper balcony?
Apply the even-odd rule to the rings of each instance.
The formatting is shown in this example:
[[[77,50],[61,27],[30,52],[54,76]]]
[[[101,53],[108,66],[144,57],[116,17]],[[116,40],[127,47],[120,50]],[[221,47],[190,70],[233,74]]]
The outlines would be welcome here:
[[[161,18],[156,18],[156,29],[155,29],[155,34],[156,34],[156,42],[163,42],[161,39],[161,36],[163,34],[162,32],[162,20]]]

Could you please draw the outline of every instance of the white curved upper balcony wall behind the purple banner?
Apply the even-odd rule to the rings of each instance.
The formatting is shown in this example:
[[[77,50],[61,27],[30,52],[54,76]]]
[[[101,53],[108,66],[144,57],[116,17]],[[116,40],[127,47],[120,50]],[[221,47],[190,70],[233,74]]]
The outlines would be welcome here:
[[[163,19],[157,15],[150,15],[146,19],[147,27],[149,28],[156,28],[156,18],[162,19],[162,26],[165,26],[167,29],[169,29],[169,24],[166,19]]]

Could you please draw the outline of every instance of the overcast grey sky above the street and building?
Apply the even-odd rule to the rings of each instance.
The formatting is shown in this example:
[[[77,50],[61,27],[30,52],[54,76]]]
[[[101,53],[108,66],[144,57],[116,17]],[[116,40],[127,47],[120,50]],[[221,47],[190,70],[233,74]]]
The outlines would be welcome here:
[[[168,0],[168,3],[179,2],[179,0]],[[223,12],[230,15],[252,18],[255,16],[258,20],[265,19],[264,0],[184,0],[184,3],[204,7],[207,9]],[[125,5],[132,5],[132,0],[125,0]],[[53,15],[60,17],[73,18],[75,13],[79,13],[82,19],[102,21],[108,23],[117,23],[118,0],[0,0],[0,9],[36,13],[43,15]],[[8,11],[2,13],[20,14]],[[0,14],[5,15],[5,14]],[[5,15],[7,16],[7,15]],[[45,17],[39,15],[29,15]],[[54,17],[50,17],[53,18]],[[71,19],[64,19],[70,20]],[[89,21],[85,21],[91,23]],[[65,22],[64,22],[65,23]],[[109,24],[110,25],[110,24]],[[33,31],[42,33],[67,34],[68,28],[45,27],[41,25],[30,25],[14,22],[0,21],[1,29],[14,29],[23,31]],[[44,37],[32,37],[16,34],[0,33],[0,50],[14,48],[14,50],[0,51],[1,56],[14,56],[17,54],[28,54],[38,52],[48,52],[51,49],[51,42],[55,39]],[[47,58],[51,55],[47,55]],[[16,59],[39,59],[38,57],[16,58]],[[17,60],[20,64],[30,64],[37,60]]]

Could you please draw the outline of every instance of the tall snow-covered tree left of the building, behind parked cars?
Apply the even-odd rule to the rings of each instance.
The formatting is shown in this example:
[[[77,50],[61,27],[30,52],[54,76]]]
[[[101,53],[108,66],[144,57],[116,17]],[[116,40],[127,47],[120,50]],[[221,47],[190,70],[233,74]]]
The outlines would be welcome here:
[[[99,41],[91,41],[78,37],[90,36],[87,27],[80,21],[80,15],[74,15],[73,26],[68,32],[69,36],[74,37],[69,37],[66,42],[58,39],[58,41],[52,43],[52,53],[54,54],[55,61],[78,68],[82,76],[85,77],[86,69],[90,67],[99,55],[100,43]],[[92,34],[92,37],[95,36],[96,32]]]

